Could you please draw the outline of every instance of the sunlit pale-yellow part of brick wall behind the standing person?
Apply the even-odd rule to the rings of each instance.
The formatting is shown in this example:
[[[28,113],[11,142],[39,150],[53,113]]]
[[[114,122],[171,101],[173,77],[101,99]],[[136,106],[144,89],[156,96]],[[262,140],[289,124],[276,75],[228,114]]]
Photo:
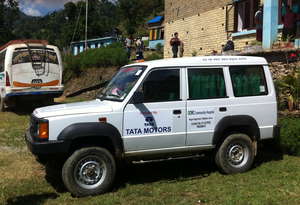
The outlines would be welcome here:
[[[192,56],[192,53],[206,55],[212,50],[220,51],[221,45],[227,40],[225,9],[221,7],[203,14],[166,22],[164,56],[167,58],[172,55],[169,41],[175,32],[179,33],[179,38],[184,43],[184,56]]]

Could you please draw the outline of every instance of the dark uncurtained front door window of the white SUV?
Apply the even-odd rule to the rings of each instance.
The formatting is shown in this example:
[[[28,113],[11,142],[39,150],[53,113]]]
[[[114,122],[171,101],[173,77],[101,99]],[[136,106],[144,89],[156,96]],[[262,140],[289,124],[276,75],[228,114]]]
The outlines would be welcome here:
[[[179,69],[152,71],[142,85],[144,102],[180,100]]]

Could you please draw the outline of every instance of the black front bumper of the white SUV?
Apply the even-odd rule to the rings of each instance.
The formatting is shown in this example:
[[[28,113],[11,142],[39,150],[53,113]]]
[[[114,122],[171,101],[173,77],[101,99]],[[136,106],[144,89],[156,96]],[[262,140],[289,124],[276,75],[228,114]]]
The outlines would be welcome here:
[[[70,143],[67,141],[35,142],[29,130],[25,134],[25,141],[28,149],[34,155],[66,154],[70,147]]]

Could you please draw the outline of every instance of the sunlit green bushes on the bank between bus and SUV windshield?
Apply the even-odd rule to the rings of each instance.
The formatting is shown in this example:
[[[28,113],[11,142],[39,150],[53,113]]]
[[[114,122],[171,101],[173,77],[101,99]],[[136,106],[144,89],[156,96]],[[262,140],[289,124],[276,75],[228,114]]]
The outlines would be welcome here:
[[[77,56],[64,57],[64,80],[79,75],[82,71],[93,67],[122,66],[128,64],[127,54],[120,43],[106,48],[89,49]]]

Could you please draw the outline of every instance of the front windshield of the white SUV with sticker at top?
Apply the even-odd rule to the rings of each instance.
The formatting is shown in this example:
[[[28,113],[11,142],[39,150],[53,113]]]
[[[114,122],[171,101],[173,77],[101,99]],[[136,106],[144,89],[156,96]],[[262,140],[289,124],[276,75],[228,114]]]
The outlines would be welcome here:
[[[101,100],[123,101],[138,79],[142,76],[145,66],[121,68],[100,95]]]

